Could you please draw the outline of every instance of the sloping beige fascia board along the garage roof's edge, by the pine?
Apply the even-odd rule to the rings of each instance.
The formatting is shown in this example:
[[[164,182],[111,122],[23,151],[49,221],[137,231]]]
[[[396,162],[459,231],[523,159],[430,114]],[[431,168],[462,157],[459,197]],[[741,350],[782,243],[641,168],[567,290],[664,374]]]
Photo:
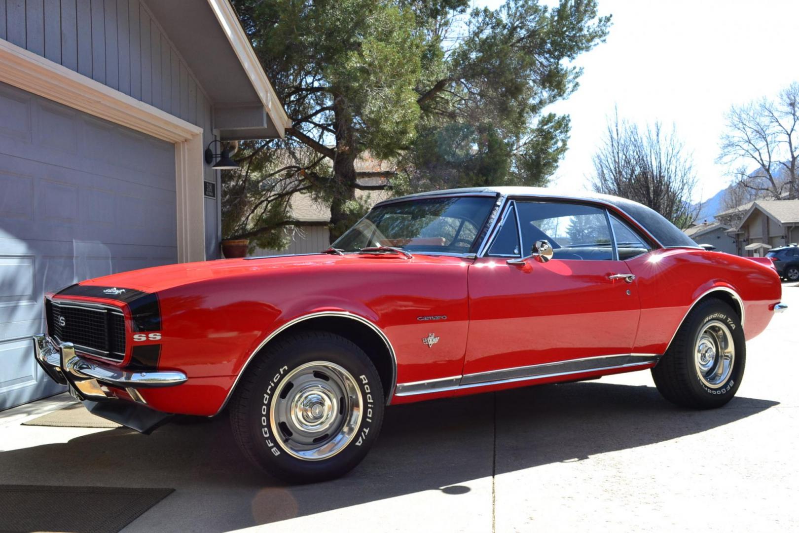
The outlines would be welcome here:
[[[283,104],[280,103],[272,83],[266,77],[264,68],[260,66],[255,50],[252,50],[249,38],[241,28],[236,11],[233,10],[233,6],[230,5],[228,0],[208,0],[208,3],[211,6],[211,10],[213,10],[213,14],[217,16],[219,25],[222,27],[222,31],[225,32],[230,46],[233,47],[233,51],[239,58],[244,72],[247,73],[247,77],[252,83],[252,88],[258,93],[261,103],[274,123],[277,134],[282,139],[285,135],[285,130],[292,125],[291,120],[289,120],[285,109],[283,109]]]

